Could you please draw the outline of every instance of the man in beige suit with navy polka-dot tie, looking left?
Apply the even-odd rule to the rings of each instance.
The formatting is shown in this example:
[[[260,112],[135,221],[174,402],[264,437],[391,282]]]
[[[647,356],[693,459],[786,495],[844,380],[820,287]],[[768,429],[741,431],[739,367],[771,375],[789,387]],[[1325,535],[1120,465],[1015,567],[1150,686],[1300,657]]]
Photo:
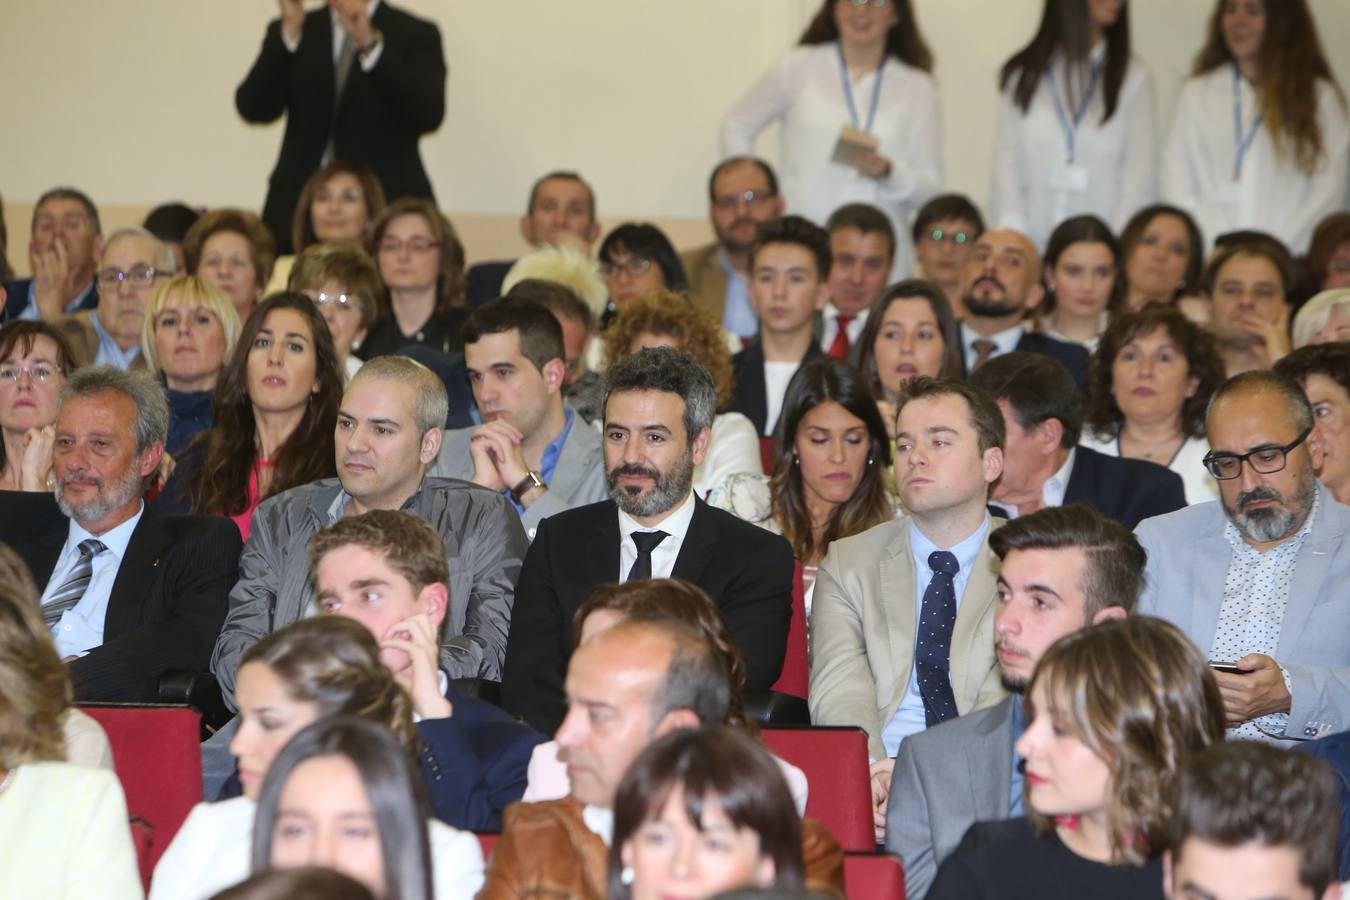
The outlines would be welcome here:
[[[873,775],[909,735],[1003,699],[986,545],[1003,524],[986,509],[1003,417],[964,382],[922,375],[896,407],[909,515],[830,544],[811,607],[811,722],[867,731]]]

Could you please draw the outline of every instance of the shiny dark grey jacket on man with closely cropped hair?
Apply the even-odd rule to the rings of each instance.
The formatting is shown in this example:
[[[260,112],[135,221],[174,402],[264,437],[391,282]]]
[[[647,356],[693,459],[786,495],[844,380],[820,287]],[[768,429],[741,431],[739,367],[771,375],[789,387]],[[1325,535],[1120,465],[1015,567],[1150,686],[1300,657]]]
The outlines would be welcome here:
[[[258,505],[239,560],[239,583],[220,630],[211,671],[234,700],[239,658],[277,629],[304,618],[313,599],[306,548],[335,519],[336,478],[301,484]],[[501,680],[516,580],[529,544],[501,494],[466,482],[427,478],[404,507],[435,526],[450,557],[450,609],[441,626],[440,667],[452,679]]]

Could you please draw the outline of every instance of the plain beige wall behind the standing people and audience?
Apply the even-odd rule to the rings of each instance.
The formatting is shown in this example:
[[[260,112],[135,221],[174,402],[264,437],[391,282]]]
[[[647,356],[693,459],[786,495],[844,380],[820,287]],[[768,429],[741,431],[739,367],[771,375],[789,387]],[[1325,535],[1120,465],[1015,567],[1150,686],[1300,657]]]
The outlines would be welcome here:
[[[32,200],[84,188],[108,225],[161,200],[261,206],[281,123],[246,125],[234,90],[274,0],[0,0],[0,150],[9,259],[27,267]],[[1350,3],[1311,0],[1323,43],[1350,43]],[[977,200],[991,152],[994,78],[1041,0],[917,0],[938,59],[946,179]],[[586,174],[602,217],[653,219],[703,240],[707,170],[726,108],[790,46],[814,0],[402,0],[440,24],[447,119],[423,142],[437,198],[471,259],[521,248],[533,177]],[[1134,43],[1162,124],[1210,0],[1133,0]],[[1350,88],[1350,57],[1332,54]],[[68,61],[78,61],[68,62]],[[774,155],[772,135],[761,147]],[[791,202],[791,198],[788,198]]]

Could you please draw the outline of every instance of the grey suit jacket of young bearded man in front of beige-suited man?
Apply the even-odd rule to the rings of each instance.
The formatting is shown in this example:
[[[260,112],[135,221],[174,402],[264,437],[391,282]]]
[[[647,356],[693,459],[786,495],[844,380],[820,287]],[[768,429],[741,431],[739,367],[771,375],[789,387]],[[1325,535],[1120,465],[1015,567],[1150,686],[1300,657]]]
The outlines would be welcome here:
[[[976,822],[1008,818],[1013,703],[976,710],[905,738],[891,775],[886,849],[905,862],[915,900]]]

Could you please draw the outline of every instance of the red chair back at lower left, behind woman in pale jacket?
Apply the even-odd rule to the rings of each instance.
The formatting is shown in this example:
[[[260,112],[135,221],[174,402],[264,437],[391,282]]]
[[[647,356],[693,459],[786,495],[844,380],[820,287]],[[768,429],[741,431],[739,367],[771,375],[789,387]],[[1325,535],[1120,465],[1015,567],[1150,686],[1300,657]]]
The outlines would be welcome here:
[[[159,857],[192,807],[201,803],[201,716],[188,707],[80,708],[108,734],[112,765],[127,795],[140,880],[148,889]]]

